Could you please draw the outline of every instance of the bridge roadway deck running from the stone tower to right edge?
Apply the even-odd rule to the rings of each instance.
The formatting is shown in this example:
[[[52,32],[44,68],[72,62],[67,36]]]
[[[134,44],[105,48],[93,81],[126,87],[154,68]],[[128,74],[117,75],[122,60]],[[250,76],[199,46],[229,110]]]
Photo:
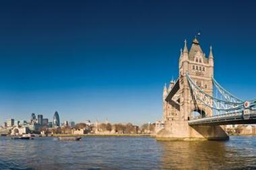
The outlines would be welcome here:
[[[252,110],[250,114],[234,112],[210,116],[207,118],[199,118],[188,121],[189,125],[226,125],[226,124],[256,124],[256,110]]]

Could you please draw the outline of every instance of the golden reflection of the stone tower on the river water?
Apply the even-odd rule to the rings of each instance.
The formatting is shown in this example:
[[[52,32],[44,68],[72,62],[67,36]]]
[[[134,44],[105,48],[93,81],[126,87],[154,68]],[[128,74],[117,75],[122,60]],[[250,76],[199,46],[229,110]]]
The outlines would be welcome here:
[[[164,142],[163,167],[215,169],[226,163],[224,142]]]

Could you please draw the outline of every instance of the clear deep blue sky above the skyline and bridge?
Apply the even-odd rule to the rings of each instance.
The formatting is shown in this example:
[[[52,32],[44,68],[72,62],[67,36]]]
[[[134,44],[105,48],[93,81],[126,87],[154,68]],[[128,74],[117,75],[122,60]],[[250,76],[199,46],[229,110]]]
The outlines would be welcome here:
[[[162,117],[162,87],[201,30],[215,77],[256,97],[256,11],[247,1],[1,1],[0,123],[32,112],[61,122],[142,124]]]

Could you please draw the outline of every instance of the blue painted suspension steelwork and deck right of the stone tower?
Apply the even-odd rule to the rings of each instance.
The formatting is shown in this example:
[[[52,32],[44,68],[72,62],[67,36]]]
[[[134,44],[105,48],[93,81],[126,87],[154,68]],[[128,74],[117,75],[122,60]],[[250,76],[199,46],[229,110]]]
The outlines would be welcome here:
[[[243,101],[235,97],[226,89],[224,89],[212,77],[213,84],[224,99],[218,99],[205,93],[196,83],[191,79],[189,73],[186,73],[189,87],[195,99],[203,103],[203,105],[211,108],[215,114],[207,116],[206,118],[191,118],[189,124],[252,124],[256,123],[256,99],[251,101]],[[247,105],[245,105],[247,104]]]

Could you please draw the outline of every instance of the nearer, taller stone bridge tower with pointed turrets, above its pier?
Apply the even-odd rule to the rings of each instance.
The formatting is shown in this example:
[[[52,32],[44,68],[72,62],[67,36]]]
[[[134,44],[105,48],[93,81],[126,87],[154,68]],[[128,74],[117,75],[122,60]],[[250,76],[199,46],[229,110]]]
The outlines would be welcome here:
[[[189,83],[185,76],[186,73],[205,93],[213,95],[214,56],[212,54],[212,46],[210,46],[210,53],[206,58],[197,38],[193,40],[190,50],[187,50],[187,41],[185,40],[185,46],[179,59],[181,120],[189,120],[195,116],[193,112],[199,113],[201,118],[212,116],[212,109],[207,108],[191,95]]]

